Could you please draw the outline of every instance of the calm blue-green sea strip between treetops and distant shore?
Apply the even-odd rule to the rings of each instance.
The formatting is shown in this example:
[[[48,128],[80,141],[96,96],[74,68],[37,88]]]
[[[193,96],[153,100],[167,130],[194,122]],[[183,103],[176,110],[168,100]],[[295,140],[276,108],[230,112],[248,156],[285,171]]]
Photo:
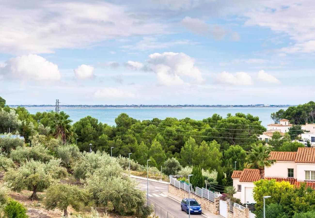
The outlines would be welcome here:
[[[76,122],[88,115],[97,118],[102,123],[115,125],[115,118],[121,113],[127,113],[130,117],[138,120],[148,120],[152,118],[164,119],[167,117],[192,118],[202,120],[211,117],[213,114],[220,114],[226,117],[228,113],[234,115],[237,112],[250,113],[258,116],[262,125],[266,126],[272,123],[270,114],[286,107],[194,107],[194,108],[60,108],[60,111],[70,115],[70,118]],[[52,107],[28,107],[27,110],[35,114],[46,110],[54,110]]]

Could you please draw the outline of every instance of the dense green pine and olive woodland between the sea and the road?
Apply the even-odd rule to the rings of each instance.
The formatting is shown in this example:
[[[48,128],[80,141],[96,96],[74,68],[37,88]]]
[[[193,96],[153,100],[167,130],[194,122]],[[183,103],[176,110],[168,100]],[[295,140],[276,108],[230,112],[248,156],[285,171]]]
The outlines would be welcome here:
[[[0,97],[0,133],[4,134],[0,138],[0,168],[7,171],[4,181],[16,192],[31,190],[31,199],[38,199],[37,192],[46,190],[43,201],[46,208],[62,209],[65,215],[68,206],[79,210],[94,202],[95,206],[110,205],[118,214],[146,217],[151,210],[144,204],[144,193],[137,191],[136,183],[123,174],[128,166],[125,158],[128,153],[132,153],[132,170],[146,170],[146,160],[151,159],[153,172],[158,172],[160,167],[166,175],[185,177],[193,172],[193,186],[226,192],[238,202],[231,198],[235,191],[231,187],[234,168],[262,171],[264,166],[272,164],[268,160],[271,150],[296,151],[304,146],[292,142],[295,136],[288,133],[284,137],[275,133],[268,141],[271,147],[264,146],[257,136],[265,127],[258,117],[243,113],[228,114],[225,118],[214,114],[203,120],[143,121],[122,113],[115,123],[109,126],[91,116],[73,123],[64,112],[33,115],[23,107],[6,106]],[[11,133],[25,136],[26,144],[10,138],[9,128]],[[89,144],[92,144],[92,153],[89,153]],[[110,158],[111,147],[115,158]],[[33,172],[40,174],[33,175]],[[58,182],[69,176],[77,185]],[[127,193],[129,198],[121,199],[117,192]],[[58,196],[66,198],[67,204]],[[134,204],[127,204],[131,198],[135,199]],[[3,205],[10,204],[7,200]]]

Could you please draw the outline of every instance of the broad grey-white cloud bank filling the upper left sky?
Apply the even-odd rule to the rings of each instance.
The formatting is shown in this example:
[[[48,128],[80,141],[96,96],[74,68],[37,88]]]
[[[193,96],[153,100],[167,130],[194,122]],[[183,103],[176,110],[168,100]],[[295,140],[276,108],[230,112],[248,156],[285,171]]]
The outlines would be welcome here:
[[[53,53],[118,37],[167,32],[167,24],[135,16],[130,10],[104,1],[5,1],[1,3],[0,52]]]

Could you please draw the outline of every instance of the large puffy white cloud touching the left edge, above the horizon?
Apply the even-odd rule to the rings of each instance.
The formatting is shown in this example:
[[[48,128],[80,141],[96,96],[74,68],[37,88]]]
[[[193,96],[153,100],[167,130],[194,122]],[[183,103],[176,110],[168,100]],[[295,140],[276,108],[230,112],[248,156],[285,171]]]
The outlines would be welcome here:
[[[0,68],[5,80],[34,80],[53,82],[60,80],[58,66],[38,55],[10,58]]]

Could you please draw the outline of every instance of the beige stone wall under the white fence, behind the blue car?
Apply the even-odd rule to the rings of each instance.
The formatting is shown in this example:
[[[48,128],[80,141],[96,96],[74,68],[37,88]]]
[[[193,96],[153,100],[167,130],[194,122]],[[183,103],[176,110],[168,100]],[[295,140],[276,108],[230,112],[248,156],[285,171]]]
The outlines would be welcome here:
[[[169,193],[172,193],[180,198],[188,198],[188,192],[185,192],[183,189],[176,188],[172,185],[169,185]],[[205,210],[210,211],[213,214],[219,214],[219,198],[215,198],[215,203],[205,199],[200,198],[197,195],[190,192],[190,198],[195,198],[201,207]]]

